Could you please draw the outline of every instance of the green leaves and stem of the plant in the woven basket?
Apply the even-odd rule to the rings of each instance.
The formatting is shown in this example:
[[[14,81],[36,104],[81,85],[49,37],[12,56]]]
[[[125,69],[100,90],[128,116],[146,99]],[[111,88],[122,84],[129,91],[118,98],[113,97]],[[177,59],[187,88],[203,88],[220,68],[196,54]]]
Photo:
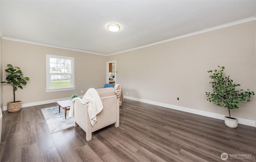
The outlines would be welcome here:
[[[8,64],[6,69],[7,82],[1,82],[1,83],[8,83],[12,85],[13,87],[13,102],[15,103],[15,91],[17,91],[18,87],[23,89],[22,85],[27,84],[27,80],[29,80],[29,77],[23,77],[23,73],[20,70],[20,67],[13,67],[11,64]]]

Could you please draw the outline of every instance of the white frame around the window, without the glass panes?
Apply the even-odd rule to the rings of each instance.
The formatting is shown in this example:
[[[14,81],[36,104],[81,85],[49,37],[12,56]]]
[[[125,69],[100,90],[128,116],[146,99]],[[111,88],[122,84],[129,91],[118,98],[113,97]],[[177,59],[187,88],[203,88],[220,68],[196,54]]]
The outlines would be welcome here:
[[[51,87],[51,73],[50,73],[50,58],[57,59],[70,59],[71,60],[71,74],[70,74],[70,87],[60,87],[60,88],[52,88]],[[46,92],[53,91],[66,91],[66,90],[74,90],[76,89],[75,85],[75,58],[74,57],[66,57],[66,56],[58,56],[58,55],[46,55]]]

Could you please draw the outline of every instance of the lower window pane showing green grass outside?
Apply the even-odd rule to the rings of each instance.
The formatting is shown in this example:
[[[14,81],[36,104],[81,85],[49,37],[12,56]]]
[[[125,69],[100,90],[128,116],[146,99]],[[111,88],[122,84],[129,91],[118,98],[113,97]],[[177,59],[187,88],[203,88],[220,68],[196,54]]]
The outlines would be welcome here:
[[[51,75],[51,87],[70,87],[70,74],[52,74]]]

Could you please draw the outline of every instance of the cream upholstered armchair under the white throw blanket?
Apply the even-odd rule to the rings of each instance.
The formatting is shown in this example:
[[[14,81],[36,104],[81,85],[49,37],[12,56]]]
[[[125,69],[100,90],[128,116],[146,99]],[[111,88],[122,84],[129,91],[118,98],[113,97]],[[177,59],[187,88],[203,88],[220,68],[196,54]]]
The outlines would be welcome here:
[[[103,104],[102,111],[97,115],[97,122],[92,126],[88,115],[88,104],[74,101],[74,126],[80,126],[86,132],[86,140],[92,139],[92,132],[115,123],[119,126],[119,99],[114,88],[96,89]]]

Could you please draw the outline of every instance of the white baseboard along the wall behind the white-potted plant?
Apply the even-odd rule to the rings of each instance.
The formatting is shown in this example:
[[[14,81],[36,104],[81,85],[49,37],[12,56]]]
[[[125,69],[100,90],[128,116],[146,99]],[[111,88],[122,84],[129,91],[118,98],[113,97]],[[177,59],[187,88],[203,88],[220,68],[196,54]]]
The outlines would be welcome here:
[[[187,107],[180,107],[180,106],[176,106],[176,105],[170,105],[170,104],[160,103],[160,102],[156,102],[156,101],[139,99],[139,98],[130,97],[130,96],[124,96],[124,98],[134,100],[134,101],[139,101],[139,102],[142,102],[142,103],[148,103],[148,104],[151,104],[151,105],[166,107],[166,108],[169,108],[169,109],[184,111],[184,112],[187,112],[187,113],[202,115],[202,116],[205,116],[205,117],[220,119],[220,120],[224,120],[224,116],[225,116],[223,114],[211,113],[211,112],[208,112],[208,111],[196,110],[196,109],[191,109],[191,108],[187,108]],[[252,120],[248,120],[248,119],[238,118],[238,123],[256,127],[256,121],[252,121]]]

